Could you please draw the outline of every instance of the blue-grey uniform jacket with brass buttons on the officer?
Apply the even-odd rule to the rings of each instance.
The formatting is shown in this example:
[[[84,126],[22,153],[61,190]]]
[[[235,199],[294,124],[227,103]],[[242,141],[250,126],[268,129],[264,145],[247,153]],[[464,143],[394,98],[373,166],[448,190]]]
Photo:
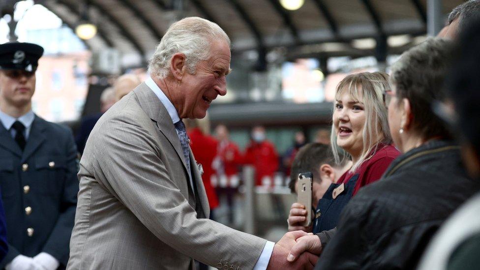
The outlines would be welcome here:
[[[0,186],[8,253],[46,252],[66,266],[77,204],[77,149],[69,128],[35,116],[22,150],[0,123]]]

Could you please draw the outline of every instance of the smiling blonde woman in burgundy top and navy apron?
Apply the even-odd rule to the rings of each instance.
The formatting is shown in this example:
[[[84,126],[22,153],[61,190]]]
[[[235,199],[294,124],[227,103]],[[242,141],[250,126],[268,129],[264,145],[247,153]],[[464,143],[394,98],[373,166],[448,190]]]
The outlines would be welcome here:
[[[331,147],[336,162],[338,148],[352,160],[352,167],[330,185],[315,210],[313,233],[305,236],[290,251],[294,261],[303,250],[320,254],[336,234],[343,208],[357,191],[379,180],[400,154],[391,145],[388,112],[384,93],[390,90],[389,75],[362,72],[345,77],[337,86],[333,103]]]

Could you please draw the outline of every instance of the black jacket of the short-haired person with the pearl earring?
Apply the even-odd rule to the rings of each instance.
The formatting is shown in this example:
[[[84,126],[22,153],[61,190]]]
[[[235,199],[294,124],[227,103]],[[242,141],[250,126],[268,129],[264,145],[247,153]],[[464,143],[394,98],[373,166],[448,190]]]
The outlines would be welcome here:
[[[479,190],[452,143],[410,150],[345,207],[315,269],[414,269],[439,226]]]

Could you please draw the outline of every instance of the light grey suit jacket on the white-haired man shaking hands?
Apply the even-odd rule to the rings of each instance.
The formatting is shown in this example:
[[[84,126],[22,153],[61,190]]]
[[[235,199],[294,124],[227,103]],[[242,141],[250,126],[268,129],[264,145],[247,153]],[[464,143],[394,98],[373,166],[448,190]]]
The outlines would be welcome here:
[[[209,216],[191,163],[198,201]],[[193,269],[192,258],[252,269],[265,246],[266,240],[197,218],[175,126],[145,83],[97,122],[78,176],[67,269]]]

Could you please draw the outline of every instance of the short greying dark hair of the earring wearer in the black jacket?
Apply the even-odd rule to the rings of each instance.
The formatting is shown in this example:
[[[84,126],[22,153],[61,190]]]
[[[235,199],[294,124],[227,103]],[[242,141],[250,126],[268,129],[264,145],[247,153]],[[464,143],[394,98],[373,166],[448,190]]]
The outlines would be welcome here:
[[[428,38],[404,52],[391,66],[391,83],[395,86],[397,106],[404,98],[410,102],[412,129],[424,140],[451,138],[444,121],[435,115],[432,106],[444,101],[445,77],[454,58],[454,43],[443,38]]]

